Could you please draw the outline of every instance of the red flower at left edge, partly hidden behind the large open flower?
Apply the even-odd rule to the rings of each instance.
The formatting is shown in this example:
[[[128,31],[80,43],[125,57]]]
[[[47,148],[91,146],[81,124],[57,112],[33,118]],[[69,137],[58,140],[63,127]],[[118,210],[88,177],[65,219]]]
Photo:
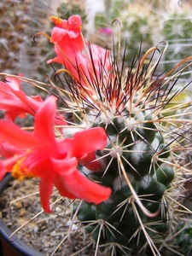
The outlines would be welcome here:
[[[21,90],[20,79],[8,77],[6,83],[0,81],[0,109],[6,111],[6,120],[14,121],[17,116],[26,117],[26,113],[34,116],[43,102],[40,96],[26,96]],[[55,125],[67,125],[67,122],[57,114]]]

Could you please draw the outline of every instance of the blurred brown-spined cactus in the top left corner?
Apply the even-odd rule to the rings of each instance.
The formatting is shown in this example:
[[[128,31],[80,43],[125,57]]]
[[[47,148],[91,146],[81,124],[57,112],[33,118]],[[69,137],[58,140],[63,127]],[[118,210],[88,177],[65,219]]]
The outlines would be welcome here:
[[[7,1],[0,4],[0,47],[1,70],[18,73],[22,59],[23,46],[27,39],[26,29],[30,17],[27,12],[32,8],[32,1]],[[28,43],[28,42],[27,42]]]

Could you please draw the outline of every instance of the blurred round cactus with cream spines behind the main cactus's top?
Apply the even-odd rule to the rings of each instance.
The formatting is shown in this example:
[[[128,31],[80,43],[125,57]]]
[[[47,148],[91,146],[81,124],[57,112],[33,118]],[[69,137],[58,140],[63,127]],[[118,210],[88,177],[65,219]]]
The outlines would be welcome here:
[[[113,20],[118,20],[120,25],[115,26]],[[160,42],[160,24],[157,15],[151,12],[151,9],[138,2],[113,1],[111,8],[108,10],[108,15],[96,14],[96,31],[99,31],[100,27],[108,26],[113,28],[116,49],[119,48],[119,43],[124,45],[125,41],[127,41],[129,49],[126,51],[126,61],[137,53],[137,49],[141,44],[143,45],[142,49],[145,51],[151,45]],[[106,42],[108,43],[108,40]]]

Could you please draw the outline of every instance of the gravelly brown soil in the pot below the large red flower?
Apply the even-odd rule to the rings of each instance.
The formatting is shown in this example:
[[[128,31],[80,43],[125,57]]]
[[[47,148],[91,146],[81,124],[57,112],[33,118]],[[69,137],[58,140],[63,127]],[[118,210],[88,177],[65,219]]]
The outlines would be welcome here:
[[[46,256],[91,256],[91,241],[84,239],[78,220],[67,232],[72,219],[72,204],[55,191],[51,197],[53,213],[44,213],[39,201],[38,180],[13,180],[0,197],[1,218],[27,245]],[[31,220],[30,220],[31,219]],[[30,221],[29,221],[30,220]],[[17,230],[18,229],[18,230]]]

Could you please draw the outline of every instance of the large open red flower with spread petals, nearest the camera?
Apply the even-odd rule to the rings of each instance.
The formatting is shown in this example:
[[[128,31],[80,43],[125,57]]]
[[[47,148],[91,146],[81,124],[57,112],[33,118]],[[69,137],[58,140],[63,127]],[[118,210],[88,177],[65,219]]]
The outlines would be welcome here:
[[[50,96],[38,109],[32,133],[0,120],[0,148],[4,156],[12,154],[0,161],[0,178],[6,172],[20,179],[40,177],[40,199],[45,212],[50,212],[49,197],[54,184],[62,196],[101,203],[108,199],[111,189],[84,177],[77,166],[79,160],[105,147],[107,135],[97,127],[79,131],[72,138],[55,140],[55,102],[55,96]]]

